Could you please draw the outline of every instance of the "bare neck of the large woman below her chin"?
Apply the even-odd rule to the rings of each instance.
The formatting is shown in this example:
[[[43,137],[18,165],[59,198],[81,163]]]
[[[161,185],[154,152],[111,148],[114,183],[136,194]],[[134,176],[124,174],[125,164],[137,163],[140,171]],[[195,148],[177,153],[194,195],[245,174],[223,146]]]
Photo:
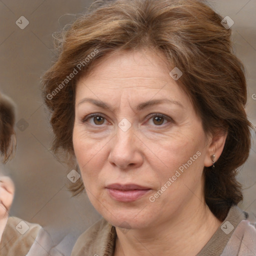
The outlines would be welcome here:
[[[205,203],[195,197],[176,216],[145,229],[123,233],[116,228],[114,256],[161,255],[194,256],[221,224]],[[184,242],[185,241],[185,242]],[[185,244],[185,246],[184,246]]]

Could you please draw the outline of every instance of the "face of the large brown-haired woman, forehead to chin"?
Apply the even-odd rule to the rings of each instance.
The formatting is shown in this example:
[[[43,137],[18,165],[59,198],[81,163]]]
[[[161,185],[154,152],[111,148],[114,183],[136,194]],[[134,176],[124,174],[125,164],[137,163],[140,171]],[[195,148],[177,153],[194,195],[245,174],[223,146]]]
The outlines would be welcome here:
[[[91,203],[112,225],[157,226],[204,201],[210,142],[172,68],[159,52],[129,51],[77,83],[74,152]]]

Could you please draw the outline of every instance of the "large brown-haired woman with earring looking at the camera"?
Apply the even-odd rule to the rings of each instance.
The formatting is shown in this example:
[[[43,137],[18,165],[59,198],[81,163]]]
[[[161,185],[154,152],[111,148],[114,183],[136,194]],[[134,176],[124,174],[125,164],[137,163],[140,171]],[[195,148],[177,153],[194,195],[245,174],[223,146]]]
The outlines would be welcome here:
[[[246,81],[221,20],[202,1],[116,0],[62,33],[42,81],[52,148],[103,216],[72,256],[256,253],[235,179]]]

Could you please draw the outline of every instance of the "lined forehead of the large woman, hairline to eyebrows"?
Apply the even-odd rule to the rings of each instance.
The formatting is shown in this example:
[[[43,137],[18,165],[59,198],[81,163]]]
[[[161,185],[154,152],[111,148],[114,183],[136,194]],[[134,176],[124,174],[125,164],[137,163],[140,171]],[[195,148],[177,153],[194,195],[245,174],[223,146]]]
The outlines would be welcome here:
[[[172,68],[163,53],[150,49],[105,56],[78,80],[76,102],[85,95],[108,100],[113,99],[109,95],[114,97],[117,94],[132,100],[163,96],[175,100],[186,97],[178,83],[169,75]]]

